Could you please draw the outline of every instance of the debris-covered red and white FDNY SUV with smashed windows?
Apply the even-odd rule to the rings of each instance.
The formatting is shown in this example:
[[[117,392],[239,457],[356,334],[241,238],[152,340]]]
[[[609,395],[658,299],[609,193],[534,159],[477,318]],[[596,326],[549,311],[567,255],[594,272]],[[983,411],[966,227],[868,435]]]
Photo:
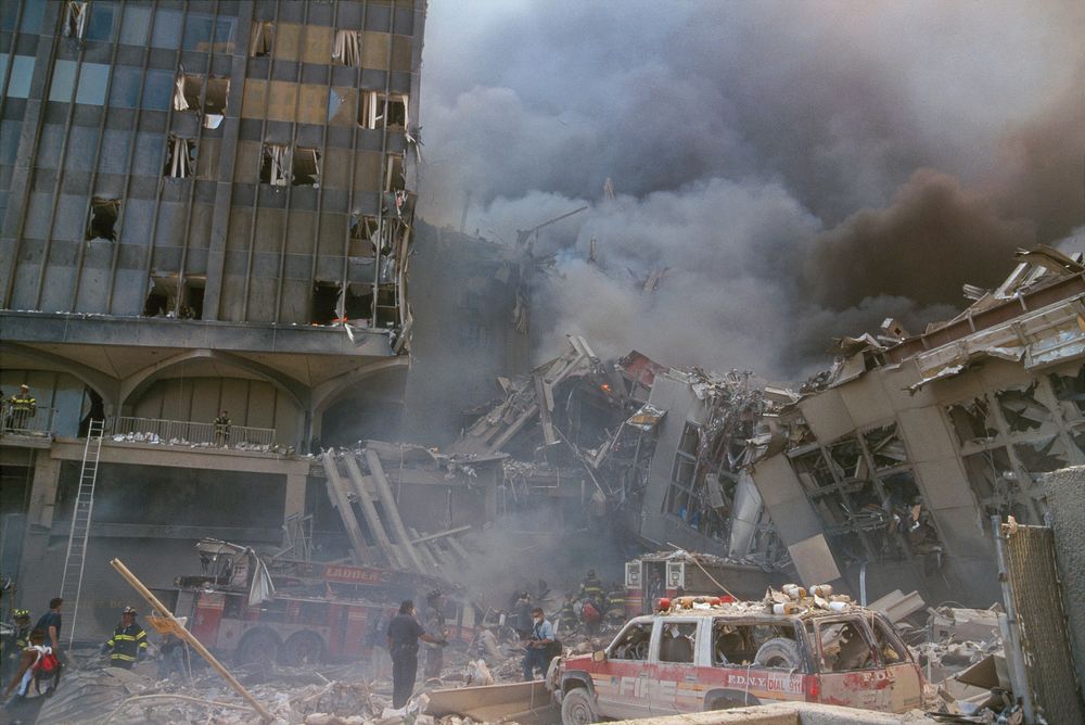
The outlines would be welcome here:
[[[919,665],[877,612],[777,615],[737,602],[638,616],[593,654],[556,658],[547,677],[564,725],[801,700],[906,712]]]

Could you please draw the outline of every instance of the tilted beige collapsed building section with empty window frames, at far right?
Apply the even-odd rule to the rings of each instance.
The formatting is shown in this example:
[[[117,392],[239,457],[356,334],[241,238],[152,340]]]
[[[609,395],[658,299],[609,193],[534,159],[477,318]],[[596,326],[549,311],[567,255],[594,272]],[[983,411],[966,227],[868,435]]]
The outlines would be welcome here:
[[[1043,523],[1042,475],[1085,462],[1085,267],[1017,256],[921,334],[888,319],[839,341],[781,412],[782,449],[749,471],[804,582],[999,599],[990,517]]]

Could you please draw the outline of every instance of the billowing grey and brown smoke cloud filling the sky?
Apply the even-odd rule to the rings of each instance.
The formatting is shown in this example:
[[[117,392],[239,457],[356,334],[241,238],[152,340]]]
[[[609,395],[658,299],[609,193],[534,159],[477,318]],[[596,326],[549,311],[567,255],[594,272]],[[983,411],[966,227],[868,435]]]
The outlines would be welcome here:
[[[540,233],[552,344],[794,379],[1018,246],[1082,246],[1083,27],[1080,0],[434,2],[421,213],[511,242],[588,204]]]

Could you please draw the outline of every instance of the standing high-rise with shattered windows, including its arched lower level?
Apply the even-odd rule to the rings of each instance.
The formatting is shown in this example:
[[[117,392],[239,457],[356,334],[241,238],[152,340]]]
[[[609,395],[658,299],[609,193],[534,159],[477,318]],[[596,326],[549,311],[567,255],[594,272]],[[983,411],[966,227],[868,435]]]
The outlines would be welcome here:
[[[278,540],[307,495],[282,455],[401,400],[424,11],[3,3],[0,387],[37,411],[0,445],[0,565],[39,572],[27,603],[59,586],[89,418],[116,496],[101,555],[187,557],[194,536]]]

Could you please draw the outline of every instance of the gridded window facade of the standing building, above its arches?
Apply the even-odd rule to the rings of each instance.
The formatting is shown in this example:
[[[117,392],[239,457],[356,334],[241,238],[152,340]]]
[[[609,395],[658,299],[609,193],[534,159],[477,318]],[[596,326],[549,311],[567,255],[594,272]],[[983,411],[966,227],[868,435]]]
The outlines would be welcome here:
[[[29,53],[0,54],[5,99],[29,97],[44,73],[50,102],[15,207],[0,189],[0,212],[25,217],[17,244],[47,264],[26,269],[37,282],[0,290],[4,306],[82,310],[90,255],[110,266],[108,300],[93,301],[93,311],[139,310],[152,274],[208,277],[217,200],[208,182],[228,173],[232,208],[216,233],[240,256],[206,282],[221,294],[209,319],[308,322],[318,283],[353,290],[379,280],[372,308],[350,317],[403,323],[395,280],[413,205],[404,160],[416,0],[254,3],[253,17],[231,15],[233,3],[0,4],[0,29],[65,36],[46,68]],[[240,126],[224,124],[230,117]],[[20,140],[4,123],[7,166]],[[266,147],[285,148],[276,181],[265,178]],[[360,217],[383,219],[368,234],[379,239],[360,243],[349,224]],[[117,249],[102,256],[61,244],[80,239]],[[61,260],[74,265],[65,272],[73,283],[43,284]],[[251,282],[226,279],[239,271]],[[101,272],[95,280],[102,287]]]

